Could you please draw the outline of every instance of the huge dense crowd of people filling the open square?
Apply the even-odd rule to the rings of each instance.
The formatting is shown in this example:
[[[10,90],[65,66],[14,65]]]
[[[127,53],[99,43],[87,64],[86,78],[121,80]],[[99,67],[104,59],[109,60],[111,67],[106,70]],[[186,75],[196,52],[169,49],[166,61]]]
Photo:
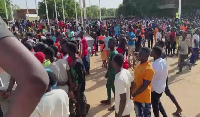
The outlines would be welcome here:
[[[0,22],[0,44],[4,38],[11,39],[7,39],[8,47],[4,49],[2,46],[0,50],[8,50],[11,53],[6,54],[12,55],[0,59],[1,76],[5,77],[1,78],[0,117],[7,113],[10,113],[9,117],[15,113],[23,117],[20,116],[22,109],[19,112],[9,111],[8,106],[12,106],[10,109],[18,108],[16,104],[20,103],[16,101],[22,101],[25,97],[23,107],[27,107],[28,111],[23,113],[27,116],[86,117],[90,109],[84,94],[86,76],[90,75],[90,66],[93,65],[90,63],[91,56],[98,54],[101,56],[102,67],[107,69],[107,99],[100,103],[110,105],[112,91],[115,105],[109,110],[115,110],[116,117],[130,117],[133,110],[136,117],[151,117],[151,107],[155,117],[159,117],[159,112],[167,117],[160,101],[164,92],[177,108],[173,115],[181,116],[183,110],[168,87],[167,57],[178,57],[177,74],[182,73],[184,66],[191,70],[196,65],[200,46],[199,20],[130,18],[85,20],[84,25],[73,20],[50,20],[50,23],[47,20],[21,20],[6,23]],[[85,34],[93,38],[92,44]],[[13,47],[8,49],[9,46]],[[22,48],[21,51],[17,51],[17,47]],[[150,56],[153,63],[149,62]],[[9,57],[18,59],[10,62],[12,59]],[[22,61],[23,64],[20,64]],[[18,67],[24,68],[20,70]],[[133,76],[129,69],[133,70]],[[22,75],[24,72],[25,75]],[[28,84],[24,85],[27,82],[23,83],[22,80],[30,72],[32,79],[25,80]],[[35,86],[43,84],[43,87],[39,87],[40,92],[34,89],[31,93],[31,90],[24,89],[33,89],[34,86],[27,86],[32,86],[32,82],[36,83]],[[27,90],[30,92],[27,93]],[[21,93],[24,97],[20,97],[20,91],[26,92],[27,96]],[[35,98],[32,105],[28,100],[33,99],[31,96]]]

